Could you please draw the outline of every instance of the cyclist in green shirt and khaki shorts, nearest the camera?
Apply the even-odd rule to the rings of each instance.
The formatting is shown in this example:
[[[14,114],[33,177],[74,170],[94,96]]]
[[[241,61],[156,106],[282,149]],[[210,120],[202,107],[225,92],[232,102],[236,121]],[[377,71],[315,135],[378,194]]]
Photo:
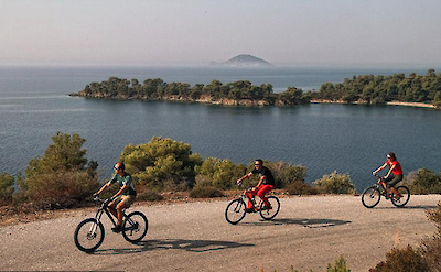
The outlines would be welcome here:
[[[131,176],[126,173],[126,166],[122,162],[118,162],[114,166],[115,175],[111,177],[111,179],[103,185],[103,187],[95,193],[94,195],[99,195],[101,192],[106,191],[107,187],[109,187],[111,184],[118,182],[118,185],[120,186],[120,189],[110,198],[111,202],[109,203],[109,206],[112,207],[114,209],[109,209],[110,213],[118,218],[118,224],[115,228],[111,228],[114,232],[120,232],[121,225],[122,225],[122,210],[125,208],[130,207],[130,205],[133,204],[135,198],[137,196],[137,191],[135,189],[133,182],[131,179]],[[115,210],[116,206],[116,210]]]

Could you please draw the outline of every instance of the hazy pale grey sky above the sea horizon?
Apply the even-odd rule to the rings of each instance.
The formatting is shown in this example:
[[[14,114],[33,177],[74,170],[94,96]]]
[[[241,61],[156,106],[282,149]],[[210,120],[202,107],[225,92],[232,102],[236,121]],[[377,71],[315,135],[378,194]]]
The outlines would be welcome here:
[[[441,0],[0,0],[0,65],[441,67]]]

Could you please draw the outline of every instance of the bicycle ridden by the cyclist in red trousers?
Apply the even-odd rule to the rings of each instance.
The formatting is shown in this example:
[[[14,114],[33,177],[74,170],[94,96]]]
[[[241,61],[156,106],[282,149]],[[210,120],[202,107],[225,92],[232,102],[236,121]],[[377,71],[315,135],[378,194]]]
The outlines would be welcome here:
[[[248,197],[248,194],[252,195],[252,198]],[[256,205],[255,196],[257,191],[252,188],[246,188],[244,193],[236,199],[232,200],[225,209],[225,219],[233,225],[238,224],[244,219],[246,214],[259,213],[261,218],[265,220],[271,220],[279,214],[280,200],[276,196],[268,196],[269,207],[263,206],[262,199]],[[252,208],[248,209],[246,202],[249,200],[252,204]]]

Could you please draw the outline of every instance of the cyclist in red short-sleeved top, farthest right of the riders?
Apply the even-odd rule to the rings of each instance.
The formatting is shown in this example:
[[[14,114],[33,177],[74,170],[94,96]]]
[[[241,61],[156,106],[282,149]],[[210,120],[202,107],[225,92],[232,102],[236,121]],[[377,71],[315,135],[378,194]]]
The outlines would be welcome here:
[[[387,172],[387,175],[385,176],[385,183],[380,183],[383,187],[385,187],[386,197],[390,197],[390,193],[394,193],[394,195],[399,198],[402,195],[398,192],[398,189],[395,188],[395,185],[402,181],[402,168],[401,164],[397,161],[397,156],[394,152],[389,152],[387,154],[387,161],[385,162],[385,164],[374,171],[373,175],[376,175],[379,171],[386,168],[387,166],[389,166],[389,172]],[[388,191],[388,188],[390,188],[390,191]]]

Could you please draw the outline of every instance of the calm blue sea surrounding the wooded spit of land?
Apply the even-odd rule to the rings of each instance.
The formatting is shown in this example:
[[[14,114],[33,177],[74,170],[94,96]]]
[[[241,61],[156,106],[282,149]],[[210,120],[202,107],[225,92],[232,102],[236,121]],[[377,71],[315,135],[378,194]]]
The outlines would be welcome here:
[[[427,70],[416,70],[426,74]],[[370,171],[396,152],[405,172],[441,166],[441,111],[394,106],[306,105],[289,108],[236,108],[201,104],[110,101],[73,98],[90,81],[109,76],[160,77],[166,81],[224,84],[248,79],[319,89],[357,74],[401,70],[325,70],[278,68],[228,70],[202,68],[0,68],[0,172],[24,172],[42,156],[57,132],[78,133],[87,157],[109,174],[122,149],[153,135],[192,145],[203,157],[248,163],[261,157],[303,164],[308,181],[336,170],[348,173],[361,191]]]

